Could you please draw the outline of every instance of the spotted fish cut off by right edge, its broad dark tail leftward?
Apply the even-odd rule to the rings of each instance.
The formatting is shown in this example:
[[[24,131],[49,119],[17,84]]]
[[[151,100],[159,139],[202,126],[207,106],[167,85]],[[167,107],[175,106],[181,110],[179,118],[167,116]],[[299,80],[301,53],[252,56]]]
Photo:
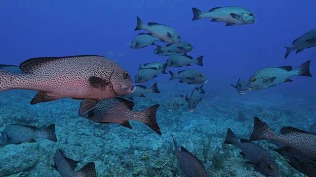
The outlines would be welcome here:
[[[297,153],[304,155],[316,162],[316,134],[294,127],[285,126],[280,130],[281,134],[273,131],[266,122],[254,118],[253,131],[250,141],[274,140],[292,148]]]

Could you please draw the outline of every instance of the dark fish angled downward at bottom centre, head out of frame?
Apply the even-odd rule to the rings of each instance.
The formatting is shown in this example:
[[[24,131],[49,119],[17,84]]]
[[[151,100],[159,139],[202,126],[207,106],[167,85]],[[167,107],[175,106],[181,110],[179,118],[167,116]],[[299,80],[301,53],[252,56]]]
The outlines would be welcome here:
[[[203,164],[191,152],[181,146],[181,151],[177,148],[176,141],[173,136],[174,155],[177,157],[182,172],[185,177],[209,177]]]

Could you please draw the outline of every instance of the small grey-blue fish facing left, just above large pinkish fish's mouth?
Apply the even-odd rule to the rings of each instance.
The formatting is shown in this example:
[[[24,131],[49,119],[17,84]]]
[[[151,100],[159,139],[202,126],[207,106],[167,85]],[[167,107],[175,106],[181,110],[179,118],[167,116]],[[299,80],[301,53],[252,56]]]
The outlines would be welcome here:
[[[160,73],[167,74],[166,69],[167,69],[166,64],[164,64],[160,69],[153,69],[153,68],[141,69],[138,71],[138,73],[134,77],[134,82],[143,83],[157,77],[157,74],[160,74]]]

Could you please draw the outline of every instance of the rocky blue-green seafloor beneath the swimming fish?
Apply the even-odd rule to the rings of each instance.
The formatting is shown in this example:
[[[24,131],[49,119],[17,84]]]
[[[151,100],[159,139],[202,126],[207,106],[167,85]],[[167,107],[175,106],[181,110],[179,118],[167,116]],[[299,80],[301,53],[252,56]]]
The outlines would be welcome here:
[[[151,86],[152,83],[145,83]],[[182,87],[183,86],[183,87]],[[188,89],[188,87],[190,89]],[[177,159],[171,134],[204,164],[210,177],[263,177],[239,155],[239,149],[224,145],[227,128],[239,138],[250,137],[253,117],[266,121],[279,131],[294,126],[316,131],[316,104],[303,98],[283,97],[280,94],[251,94],[239,96],[212,93],[205,89],[203,101],[193,113],[187,105],[169,112],[172,96],[186,94],[196,86],[186,84],[170,89],[158,83],[160,94],[149,93],[135,99],[134,110],[160,104],[157,121],[162,136],[141,122],[130,121],[133,129],[118,124],[98,124],[78,117],[79,100],[60,99],[31,105],[35,91],[9,90],[0,92],[0,131],[10,123],[34,126],[56,125],[58,142],[38,139],[38,143],[8,145],[0,148],[0,177],[58,177],[53,165],[57,148],[74,160],[80,160],[76,170],[95,162],[98,177],[184,177]],[[303,177],[286,160],[273,151],[275,145],[256,142],[271,152],[279,166],[280,177]],[[142,159],[148,154],[149,159]]]

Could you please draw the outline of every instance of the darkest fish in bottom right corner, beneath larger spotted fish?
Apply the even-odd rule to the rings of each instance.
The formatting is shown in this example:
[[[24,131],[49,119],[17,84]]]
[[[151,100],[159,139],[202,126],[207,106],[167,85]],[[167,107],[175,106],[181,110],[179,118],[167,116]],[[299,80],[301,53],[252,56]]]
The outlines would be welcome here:
[[[316,163],[311,162],[305,156],[296,153],[295,150],[284,147],[275,149],[277,153],[287,158],[290,166],[308,177],[316,177]]]

